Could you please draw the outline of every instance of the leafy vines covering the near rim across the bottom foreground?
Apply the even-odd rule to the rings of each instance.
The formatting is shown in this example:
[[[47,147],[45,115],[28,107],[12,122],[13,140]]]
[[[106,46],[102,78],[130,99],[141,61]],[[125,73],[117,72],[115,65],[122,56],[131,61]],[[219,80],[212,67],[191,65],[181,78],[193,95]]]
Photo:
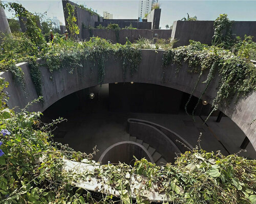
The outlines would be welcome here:
[[[121,194],[121,202],[132,203],[131,177],[142,182],[135,191],[137,203],[148,203],[144,190],[164,193],[164,202],[174,203],[248,203],[256,201],[256,161],[237,155],[224,157],[220,152],[205,152],[199,147],[181,154],[175,164],[156,166],[145,159],[134,167],[108,164],[96,167],[93,173],[61,171],[62,159],[95,165],[96,153],[84,154],[68,145],[52,141],[50,124],[40,122],[39,112],[25,109],[14,112],[7,107],[8,86],[0,79],[0,203],[115,203],[112,195],[94,197],[87,190],[76,188],[76,182],[97,177]],[[36,101],[34,101],[36,102]],[[199,139],[200,141],[200,139]],[[108,191],[110,188],[106,189]],[[96,190],[96,189],[95,189]],[[97,190],[96,190],[97,191]]]

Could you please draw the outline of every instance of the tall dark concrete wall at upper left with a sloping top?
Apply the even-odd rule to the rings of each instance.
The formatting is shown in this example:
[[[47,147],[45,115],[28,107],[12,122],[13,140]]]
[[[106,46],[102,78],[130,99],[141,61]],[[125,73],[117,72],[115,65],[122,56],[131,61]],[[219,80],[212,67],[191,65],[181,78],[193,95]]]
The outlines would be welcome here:
[[[76,23],[79,28],[79,35],[78,38],[82,39],[82,28],[83,27],[94,27],[95,21],[102,21],[103,18],[98,16],[98,15],[91,15],[90,12],[81,9],[78,7],[77,4],[70,2],[70,1],[62,1],[62,6],[63,6],[63,13],[64,13],[64,18],[65,18],[65,24],[67,25],[67,16],[68,12],[66,11],[66,4],[69,3],[73,6],[75,6],[75,17],[77,19]]]

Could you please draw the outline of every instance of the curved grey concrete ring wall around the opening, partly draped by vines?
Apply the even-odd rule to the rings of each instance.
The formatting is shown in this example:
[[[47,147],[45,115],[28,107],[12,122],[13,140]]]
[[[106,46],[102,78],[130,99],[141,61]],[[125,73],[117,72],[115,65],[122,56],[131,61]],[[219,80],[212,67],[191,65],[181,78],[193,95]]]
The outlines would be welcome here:
[[[126,78],[123,76],[122,63],[120,60],[115,61],[110,59],[105,66],[104,83],[115,82],[137,82],[162,85],[174,88],[186,93],[191,93],[194,89],[195,83],[198,79],[198,74],[189,73],[187,71],[187,64],[184,64],[176,73],[176,66],[169,65],[166,68],[165,80],[162,78],[162,56],[163,50],[142,50],[142,62],[140,63],[138,71],[131,76],[127,72]],[[40,61],[40,60],[39,60]],[[27,63],[17,64],[23,68],[25,72],[25,91],[13,81],[12,74],[2,72],[1,77],[6,78],[10,83],[6,89],[10,95],[10,107],[25,107],[31,100],[37,98],[35,86],[30,77],[30,71]],[[34,104],[28,108],[29,111],[44,111],[49,106],[54,104],[57,100],[65,97],[78,90],[98,85],[98,69],[95,67],[90,70],[90,63],[85,62],[83,67],[77,68],[73,73],[69,73],[70,68],[63,68],[54,71],[52,74],[46,67],[40,67],[42,79],[42,95],[44,96],[44,103]],[[207,73],[205,73],[200,81],[196,91],[193,95],[199,97],[204,89],[204,84]],[[217,93],[218,75],[212,81],[203,99],[212,103]],[[256,149],[256,122],[252,120],[256,118],[256,92],[252,91],[247,97],[240,98],[237,103],[231,103],[229,107],[220,107],[219,109],[233,120],[240,129],[245,133]]]

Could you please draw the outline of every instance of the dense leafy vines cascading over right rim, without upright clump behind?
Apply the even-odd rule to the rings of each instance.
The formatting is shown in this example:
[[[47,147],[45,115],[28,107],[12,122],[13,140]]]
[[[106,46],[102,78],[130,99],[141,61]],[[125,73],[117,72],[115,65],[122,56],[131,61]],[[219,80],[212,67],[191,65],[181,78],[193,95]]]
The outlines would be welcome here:
[[[205,83],[205,89],[201,93],[198,103],[207,91],[210,82],[214,79],[215,73],[219,74],[220,81],[217,96],[212,102],[214,109],[222,105],[228,106],[234,97],[239,98],[252,90],[256,90],[256,69],[254,65],[244,58],[216,46],[190,41],[188,46],[166,50],[163,55],[163,67],[166,67],[169,63],[177,65],[177,73],[183,63],[188,63],[189,72],[199,73],[199,79],[193,93],[198,86],[202,73],[209,69],[207,80],[203,82]]]

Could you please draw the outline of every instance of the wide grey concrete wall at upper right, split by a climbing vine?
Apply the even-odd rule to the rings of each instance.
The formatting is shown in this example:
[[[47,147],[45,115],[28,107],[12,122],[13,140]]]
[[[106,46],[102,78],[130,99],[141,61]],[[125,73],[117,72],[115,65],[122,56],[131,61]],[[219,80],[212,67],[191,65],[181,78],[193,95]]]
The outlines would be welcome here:
[[[256,42],[256,21],[234,21],[232,24],[233,37],[244,37],[246,34],[254,36]],[[189,40],[200,41],[211,45],[212,36],[214,36],[214,21],[174,21],[172,39],[179,40],[175,46],[188,45]]]

